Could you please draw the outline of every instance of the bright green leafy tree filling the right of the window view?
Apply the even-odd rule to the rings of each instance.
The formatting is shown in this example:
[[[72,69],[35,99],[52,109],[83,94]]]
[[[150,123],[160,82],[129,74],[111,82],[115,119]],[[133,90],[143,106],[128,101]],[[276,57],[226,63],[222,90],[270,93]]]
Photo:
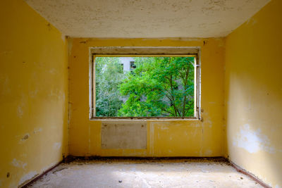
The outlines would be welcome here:
[[[192,116],[194,67],[192,57],[137,57],[136,68],[120,84],[128,100],[118,116]]]

